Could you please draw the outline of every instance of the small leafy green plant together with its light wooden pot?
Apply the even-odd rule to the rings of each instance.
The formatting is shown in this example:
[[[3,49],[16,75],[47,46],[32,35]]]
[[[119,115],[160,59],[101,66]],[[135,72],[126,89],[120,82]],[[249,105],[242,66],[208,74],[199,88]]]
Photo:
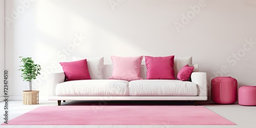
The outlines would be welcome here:
[[[32,91],[32,79],[36,79],[37,75],[40,75],[41,66],[35,64],[31,57],[23,57],[20,62],[23,62],[22,67],[18,69],[22,71],[21,77],[23,81],[29,82],[29,91],[23,91],[23,103],[24,104],[38,104],[39,103],[39,91]]]

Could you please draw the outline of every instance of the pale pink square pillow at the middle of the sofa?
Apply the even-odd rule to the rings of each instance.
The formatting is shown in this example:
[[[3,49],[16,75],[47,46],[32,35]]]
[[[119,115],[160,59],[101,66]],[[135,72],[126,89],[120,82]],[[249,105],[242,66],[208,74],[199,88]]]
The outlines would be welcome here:
[[[118,57],[111,56],[113,62],[112,77],[109,79],[122,79],[127,81],[142,79],[140,65],[143,56]]]

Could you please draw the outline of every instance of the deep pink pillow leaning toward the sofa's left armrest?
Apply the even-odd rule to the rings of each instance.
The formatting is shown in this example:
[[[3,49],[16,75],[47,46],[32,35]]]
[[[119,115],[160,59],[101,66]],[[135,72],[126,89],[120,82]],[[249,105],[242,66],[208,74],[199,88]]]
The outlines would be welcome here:
[[[60,62],[60,65],[62,66],[66,81],[91,79],[86,59],[72,62]]]

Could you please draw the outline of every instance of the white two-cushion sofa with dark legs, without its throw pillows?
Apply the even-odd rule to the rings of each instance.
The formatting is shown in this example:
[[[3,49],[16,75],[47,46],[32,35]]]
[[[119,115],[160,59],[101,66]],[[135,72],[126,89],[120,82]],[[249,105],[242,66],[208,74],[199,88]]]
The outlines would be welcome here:
[[[103,66],[103,79],[65,81],[65,74],[52,73],[48,80],[48,100],[207,100],[206,73],[191,74],[190,81],[147,80],[146,66],[141,65],[143,80],[110,80],[112,65]],[[174,67],[175,68],[175,67]],[[177,71],[177,69],[175,69]],[[177,75],[177,73],[176,73]]]

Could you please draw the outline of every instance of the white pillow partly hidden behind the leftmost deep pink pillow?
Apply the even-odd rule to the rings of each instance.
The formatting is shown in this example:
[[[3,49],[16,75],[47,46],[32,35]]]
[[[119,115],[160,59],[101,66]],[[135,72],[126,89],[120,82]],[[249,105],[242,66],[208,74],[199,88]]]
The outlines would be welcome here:
[[[87,59],[88,70],[92,79],[103,79],[102,69],[104,65],[104,57],[82,58],[73,56],[73,61],[81,59]]]

